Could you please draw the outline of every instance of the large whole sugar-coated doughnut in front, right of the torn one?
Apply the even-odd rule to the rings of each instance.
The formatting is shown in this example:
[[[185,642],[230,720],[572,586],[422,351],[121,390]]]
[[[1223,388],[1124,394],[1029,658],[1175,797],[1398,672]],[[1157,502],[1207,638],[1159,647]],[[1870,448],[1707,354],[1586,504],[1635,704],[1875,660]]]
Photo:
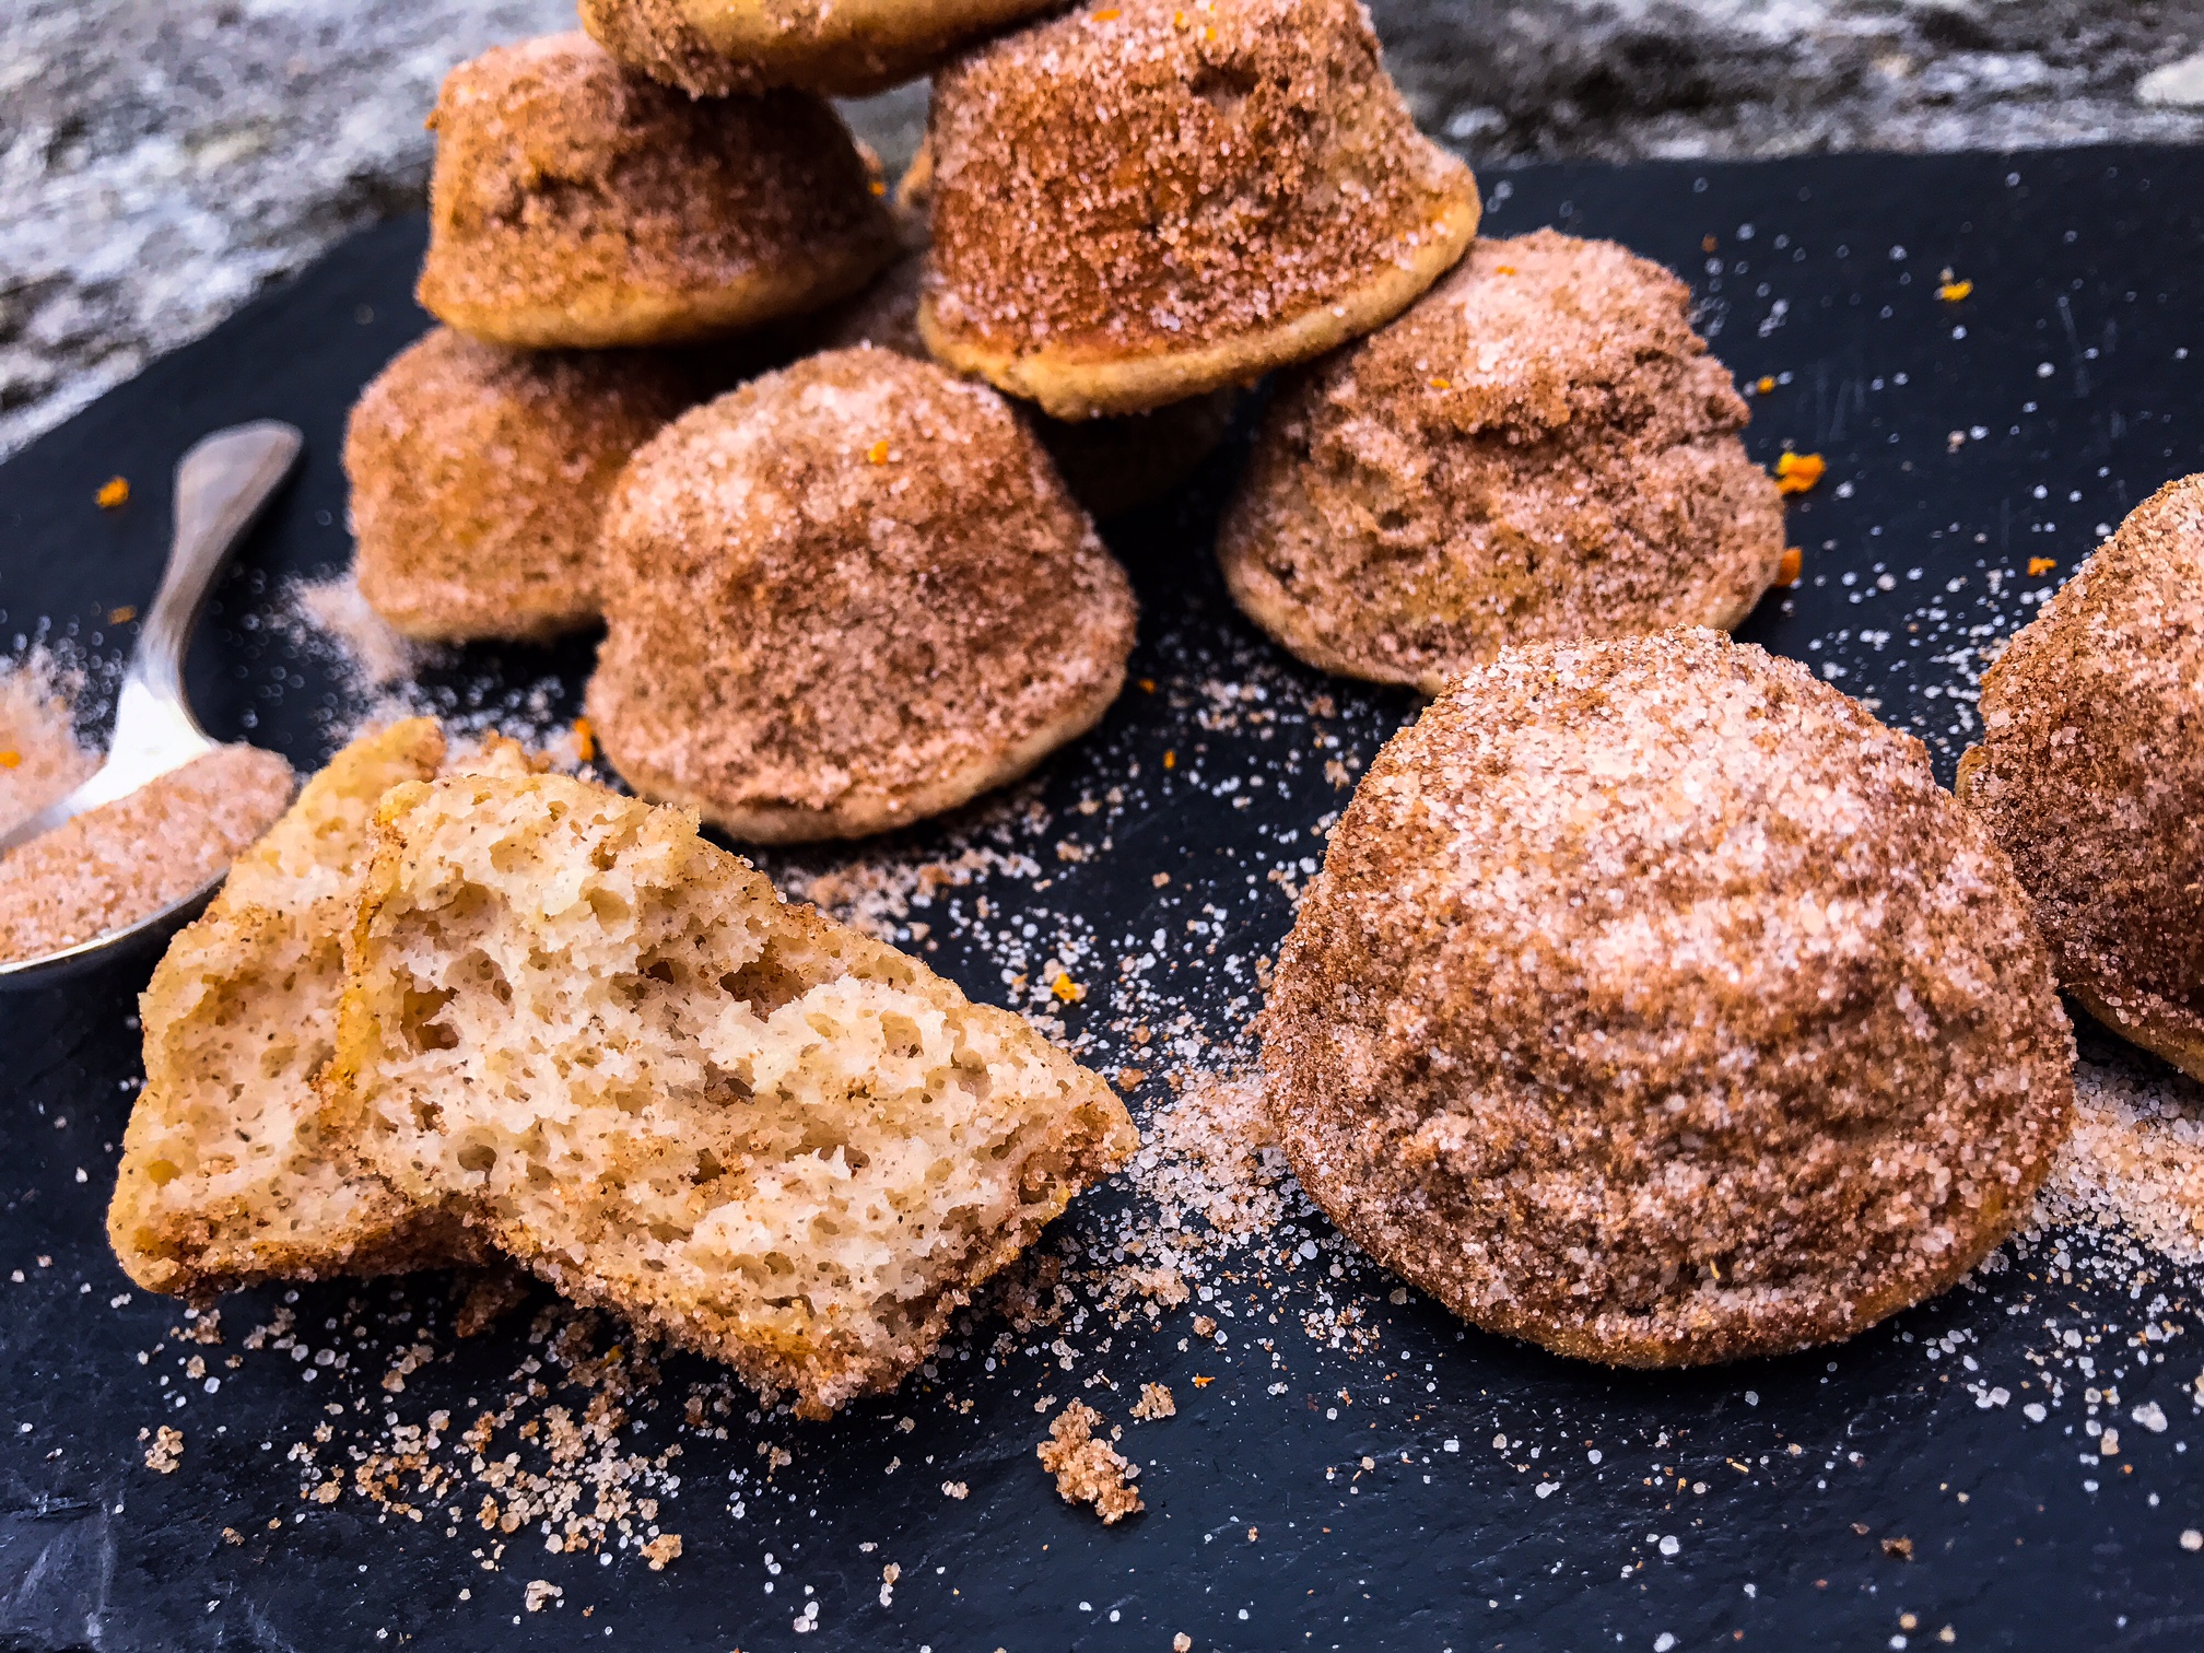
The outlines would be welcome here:
[[[1713,630],[1463,672],[1355,791],[1265,1018],[1331,1221],[1466,1320],[1618,1366],[1942,1292],[2072,1117],[1988,831],[1920,741]]]

